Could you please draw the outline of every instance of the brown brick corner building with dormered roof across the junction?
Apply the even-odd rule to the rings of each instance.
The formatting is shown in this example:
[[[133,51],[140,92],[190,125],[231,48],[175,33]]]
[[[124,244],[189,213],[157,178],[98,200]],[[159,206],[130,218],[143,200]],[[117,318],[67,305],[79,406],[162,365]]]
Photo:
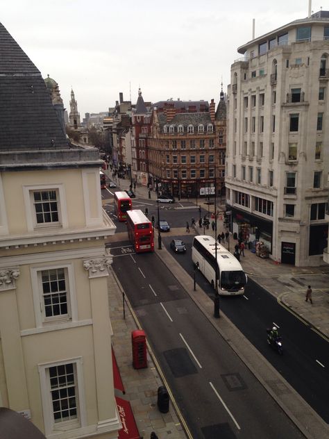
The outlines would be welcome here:
[[[226,106],[223,99],[221,106]],[[179,100],[154,103],[148,138],[149,183],[153,187],[160,184],[163,193],[178,199],[212,195],[215,182],[220,194],[225,126],[226,113],[215,112],[213,99],[210,104]]]

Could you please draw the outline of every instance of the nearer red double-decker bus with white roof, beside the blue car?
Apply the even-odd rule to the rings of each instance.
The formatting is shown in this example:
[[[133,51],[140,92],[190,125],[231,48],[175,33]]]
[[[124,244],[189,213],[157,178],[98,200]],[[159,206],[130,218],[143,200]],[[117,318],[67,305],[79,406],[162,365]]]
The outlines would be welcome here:
[[[142,210],[128,210],[127,229],[129,240],[136,253],[154,251],[153,226]]]

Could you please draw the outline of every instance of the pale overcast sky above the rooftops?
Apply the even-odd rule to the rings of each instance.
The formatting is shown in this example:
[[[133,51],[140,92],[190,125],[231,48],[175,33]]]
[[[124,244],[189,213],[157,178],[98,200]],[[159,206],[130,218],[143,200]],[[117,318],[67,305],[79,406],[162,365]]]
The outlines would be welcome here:
[[[312,0],[317,12],[324,0]],[[308,0],[15,0],[1,22],[45,78],[58,82],[69,109],[71,87],[82,117],[119,100],[219,101],[237,47],[307,17]]]

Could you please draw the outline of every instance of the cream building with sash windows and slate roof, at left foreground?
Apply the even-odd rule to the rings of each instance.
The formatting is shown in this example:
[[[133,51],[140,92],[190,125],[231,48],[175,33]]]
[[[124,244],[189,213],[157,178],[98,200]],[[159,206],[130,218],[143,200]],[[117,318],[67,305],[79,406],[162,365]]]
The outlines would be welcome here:
[[[0,66],[0,406],[47,438],[117,438],[102,162],[1,24]]]

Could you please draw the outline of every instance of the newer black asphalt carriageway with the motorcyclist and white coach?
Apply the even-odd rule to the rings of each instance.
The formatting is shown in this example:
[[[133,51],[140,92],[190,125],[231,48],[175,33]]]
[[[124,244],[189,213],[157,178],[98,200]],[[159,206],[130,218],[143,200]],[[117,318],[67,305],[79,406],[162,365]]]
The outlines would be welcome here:
[[[174,257],[190,276],[193,276],[192,236],[185,235],[180,238],[183,238],[187,244],[187,253]],[[162,242],[169,249],[169,238],[162,239]],[[196,273],[196,283],[206,294],[214,297],[210,284],[199,272]],[[328,342],[310,326],[305,326],[301,320],[289,313],[275,297],[251,279],[248,279],[244,297],[221,297],[220,306],[239,331],[244,333],[267,361],[276,367],[276,370],[328,423]],[[282,356],[279,356],[266,342],[266,329],[273,324],[280,328],[279,332],[282,335],[284,348]]]

